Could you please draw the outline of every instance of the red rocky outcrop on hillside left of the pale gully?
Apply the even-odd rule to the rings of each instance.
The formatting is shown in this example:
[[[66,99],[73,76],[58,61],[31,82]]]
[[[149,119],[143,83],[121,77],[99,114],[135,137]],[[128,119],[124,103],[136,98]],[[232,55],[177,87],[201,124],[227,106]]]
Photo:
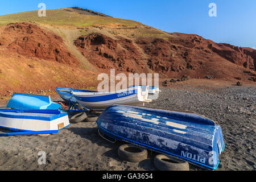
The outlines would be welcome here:
[[[0,35],[0,46],[26,57],[77,65],[79,60],[65,47],[63,39],[31,23],[8,24]]]

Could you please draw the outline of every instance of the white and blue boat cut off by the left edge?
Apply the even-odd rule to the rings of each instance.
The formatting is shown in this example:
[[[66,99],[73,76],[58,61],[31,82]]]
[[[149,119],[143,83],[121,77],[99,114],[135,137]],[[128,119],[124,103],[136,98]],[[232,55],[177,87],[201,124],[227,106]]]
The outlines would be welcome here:
[[[0,127],[16,131],[0,136],[52,134],[69,125],[68,114],[59,110],[0,109]]]

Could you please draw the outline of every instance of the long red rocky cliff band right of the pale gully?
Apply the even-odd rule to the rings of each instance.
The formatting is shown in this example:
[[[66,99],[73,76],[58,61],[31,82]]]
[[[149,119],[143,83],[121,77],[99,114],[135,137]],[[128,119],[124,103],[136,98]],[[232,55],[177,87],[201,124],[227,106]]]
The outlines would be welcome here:
[[[115,36],[113,39],[92,33],[77,38],[75,45],[100,69],[150,70],[163,77],[256,79],[256,50],[214,43],[198,35],[174,33],[168,39],[142,36],[135,39]]]

